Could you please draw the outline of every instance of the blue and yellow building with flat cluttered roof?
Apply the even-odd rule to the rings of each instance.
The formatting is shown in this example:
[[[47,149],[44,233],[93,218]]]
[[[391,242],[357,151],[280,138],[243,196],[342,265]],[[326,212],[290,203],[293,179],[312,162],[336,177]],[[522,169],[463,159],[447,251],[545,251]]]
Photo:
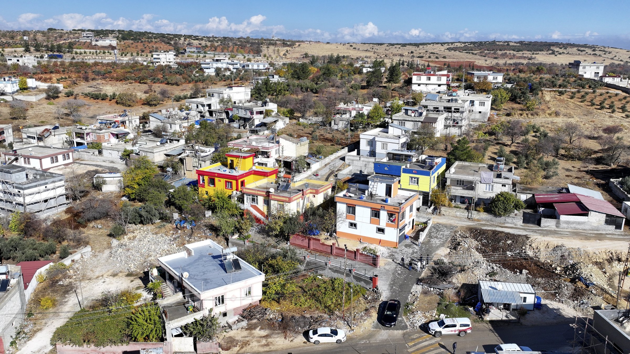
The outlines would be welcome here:
[[[387,161],[374,163],[375,174],[400,177],[399,188],[415,191],[420,195],[420,205],[427,206],[433,188],[442,185],[446,171],[446,158],[418,156],[417,152],[389,152]]]

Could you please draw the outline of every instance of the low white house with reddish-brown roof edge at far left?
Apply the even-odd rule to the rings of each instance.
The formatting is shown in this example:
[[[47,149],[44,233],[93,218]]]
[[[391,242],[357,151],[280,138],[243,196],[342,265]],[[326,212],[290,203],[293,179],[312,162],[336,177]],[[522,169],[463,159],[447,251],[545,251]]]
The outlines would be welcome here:
[[[63,147],[31,146],[2,153],[5,163],[48,171],[74,161],[74,150]]]

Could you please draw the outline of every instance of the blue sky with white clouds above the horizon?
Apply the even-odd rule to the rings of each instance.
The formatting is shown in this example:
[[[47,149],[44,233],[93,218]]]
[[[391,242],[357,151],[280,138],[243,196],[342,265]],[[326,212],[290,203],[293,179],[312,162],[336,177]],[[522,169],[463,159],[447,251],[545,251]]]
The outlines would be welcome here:
[[[11,1],[0,29],[109,28],[323,42],[546,40],[630,48],[630,1]]]

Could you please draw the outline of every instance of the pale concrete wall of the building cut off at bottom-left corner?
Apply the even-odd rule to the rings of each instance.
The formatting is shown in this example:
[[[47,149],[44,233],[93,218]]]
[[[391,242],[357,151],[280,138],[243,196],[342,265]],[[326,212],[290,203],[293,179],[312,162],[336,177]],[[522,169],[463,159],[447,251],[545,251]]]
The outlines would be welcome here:
[[[19,269],[19,268],[16,268]],[[12,271],[14,271],[12,269]],[[20,314],[26,311],[26,297],[24,295],[24,281],[20,276],[17,282],[0,298],[0,314]],[[24,322],[24,315],[0,316],[0,351],[4,353],[9,348],[11,336],[15,329]]]

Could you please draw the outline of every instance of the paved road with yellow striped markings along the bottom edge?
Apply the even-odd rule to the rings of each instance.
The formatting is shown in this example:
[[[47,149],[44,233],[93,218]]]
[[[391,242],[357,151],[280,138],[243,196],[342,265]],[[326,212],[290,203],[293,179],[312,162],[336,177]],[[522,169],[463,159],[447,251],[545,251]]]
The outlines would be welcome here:
[[[270,351],[272,354],[300,353],[364,353],[364,354],[446,354],[452,353],[453,342],[457,341],[456,353],[466,351],[486,351],[491,353],[501,343],[516,343],[529,346],[536,351],[570,352],[573,340],[571,319],[567,323],[547,326],[523,326],[518,323],[473,324],[473,332],[465,337],[442,336],[435,338],[421,331],[391,332],[372,331],[361,338],[352,338],[340,345],[323,343],[318,346],[311,343],[299,348],[282,351]]]

